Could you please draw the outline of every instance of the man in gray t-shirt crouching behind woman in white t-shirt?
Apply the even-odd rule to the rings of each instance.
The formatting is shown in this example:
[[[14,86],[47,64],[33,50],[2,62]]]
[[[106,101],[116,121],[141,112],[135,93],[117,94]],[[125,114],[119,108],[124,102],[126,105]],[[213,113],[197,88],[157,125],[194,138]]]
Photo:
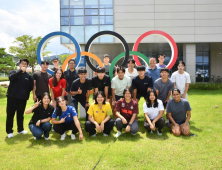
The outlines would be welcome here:
[[[169,102],[169,97],[174,88],[173,82],[168,78],[169,69],[164,67],[160,70],[161,78],[154,82],[154,89],[158,95],[158,99],[163,102],[164,108],[166,108],[167,102]]]

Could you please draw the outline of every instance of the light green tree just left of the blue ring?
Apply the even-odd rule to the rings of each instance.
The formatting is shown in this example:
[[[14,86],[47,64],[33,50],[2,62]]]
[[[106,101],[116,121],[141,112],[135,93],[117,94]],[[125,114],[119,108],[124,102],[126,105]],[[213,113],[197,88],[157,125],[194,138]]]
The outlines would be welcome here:
[[[9,52],[15,54],[19,58],[27,58],[29,60],[29,65],[32,68],[32,73],[34,72],[34,67],[37,65],[37,48],[38,44],[41,41],[41,37],[33,38],[29,35],[23,35],[21,37],[17,37],[13,42],[17,44],[17,46],[9,47]],[[43,51],[46,49],[47,45],[44,47]],[[51,53],[50,51],[43,52],[43,56]]]

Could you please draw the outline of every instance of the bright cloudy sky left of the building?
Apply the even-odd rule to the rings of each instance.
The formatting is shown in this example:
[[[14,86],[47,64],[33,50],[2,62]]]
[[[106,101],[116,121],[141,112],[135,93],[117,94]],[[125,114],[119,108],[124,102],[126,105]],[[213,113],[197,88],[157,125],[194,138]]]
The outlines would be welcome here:
[[[60,31],[59,10],[59,0],[0,0],[0,48],[9,52],[22,35],[35,38]],[[60,38],[50,40],[47,50],[51,55],[69,52],[60,45]]]

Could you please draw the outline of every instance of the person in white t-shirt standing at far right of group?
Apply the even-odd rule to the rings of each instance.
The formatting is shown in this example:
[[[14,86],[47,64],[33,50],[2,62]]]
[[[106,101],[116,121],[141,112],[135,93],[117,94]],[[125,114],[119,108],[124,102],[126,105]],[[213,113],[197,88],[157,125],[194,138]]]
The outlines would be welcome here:
[[[171,80],[174,82],[174,88],[177,88],[181,92],[181,98],[188,100],[187,91],[189,89],[190,75],[184,71],[185,63],[183,61],[179,61],[177,66],[178,71],[175,71],[172,76]]]

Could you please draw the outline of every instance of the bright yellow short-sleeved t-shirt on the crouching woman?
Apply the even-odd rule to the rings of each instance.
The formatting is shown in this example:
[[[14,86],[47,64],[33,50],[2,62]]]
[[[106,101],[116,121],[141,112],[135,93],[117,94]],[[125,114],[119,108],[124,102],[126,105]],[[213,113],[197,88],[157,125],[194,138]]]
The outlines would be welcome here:
[[[91,115],[98,124],[101,124],[106,116],[113,114],[111,106],[108,102],[102,105],[102,109],[99,108],[98,104],[91,104],[87,113]]]

